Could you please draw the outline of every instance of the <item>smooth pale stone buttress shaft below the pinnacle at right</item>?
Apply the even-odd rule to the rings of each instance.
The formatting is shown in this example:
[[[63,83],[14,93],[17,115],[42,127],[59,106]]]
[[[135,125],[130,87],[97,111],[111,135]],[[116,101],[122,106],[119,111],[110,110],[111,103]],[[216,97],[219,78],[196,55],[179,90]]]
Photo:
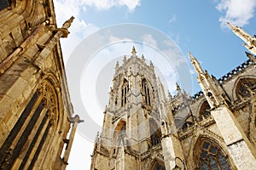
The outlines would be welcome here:
[[[250,169],[256,167],[256,151],[241,129],[236,117],[226,105],[220,105],[211,111],[224,142],[228,147],[230,157],[237,169]]]

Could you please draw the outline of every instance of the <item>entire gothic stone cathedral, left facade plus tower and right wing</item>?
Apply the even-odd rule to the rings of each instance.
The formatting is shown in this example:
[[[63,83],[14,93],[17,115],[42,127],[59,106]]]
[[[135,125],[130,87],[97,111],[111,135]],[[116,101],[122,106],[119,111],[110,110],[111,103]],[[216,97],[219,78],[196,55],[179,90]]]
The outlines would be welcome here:
[[[67,88],[52,0],[0,3],[0,169],[66,169],[79,116]],[[91,170],[256,169],[256,38],[247,61],[210,76],[189,54],[201,92],[168,94],[154,64],[132,48],[115,66]],[[86,120],[85,120],[86,121]]]

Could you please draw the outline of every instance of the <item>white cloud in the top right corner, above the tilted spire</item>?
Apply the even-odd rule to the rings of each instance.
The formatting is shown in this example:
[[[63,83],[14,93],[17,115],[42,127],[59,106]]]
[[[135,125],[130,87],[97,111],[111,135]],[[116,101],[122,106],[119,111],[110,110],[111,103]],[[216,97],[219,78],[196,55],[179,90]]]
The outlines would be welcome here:
[[[216,8],[225,13],[219,18],[222,27],[226,26],[227,21],[236,26],[245,26],[253,18],[256,0],[221,0]]]

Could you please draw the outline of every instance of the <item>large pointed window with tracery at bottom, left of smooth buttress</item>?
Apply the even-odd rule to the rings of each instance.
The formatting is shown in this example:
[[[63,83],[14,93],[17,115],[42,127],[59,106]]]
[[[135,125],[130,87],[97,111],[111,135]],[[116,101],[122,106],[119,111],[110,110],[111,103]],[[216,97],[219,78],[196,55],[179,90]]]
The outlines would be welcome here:
[[[198,156],[195,158],[198,161],[198,166],[201,170],[230,170],[230,164],[227,157],[224,156],[221,148],[212,140],[203,139],[199,145]]]

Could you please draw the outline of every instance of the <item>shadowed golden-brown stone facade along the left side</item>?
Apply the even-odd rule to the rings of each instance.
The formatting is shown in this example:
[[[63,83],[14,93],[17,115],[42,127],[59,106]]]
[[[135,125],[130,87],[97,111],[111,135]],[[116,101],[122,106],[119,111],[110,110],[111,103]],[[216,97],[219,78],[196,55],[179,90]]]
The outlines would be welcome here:
[[[0,8],[0,169],[65,169],[79,117],[72,117],[59,39],[73,18],[57,28],[51,0]]]

